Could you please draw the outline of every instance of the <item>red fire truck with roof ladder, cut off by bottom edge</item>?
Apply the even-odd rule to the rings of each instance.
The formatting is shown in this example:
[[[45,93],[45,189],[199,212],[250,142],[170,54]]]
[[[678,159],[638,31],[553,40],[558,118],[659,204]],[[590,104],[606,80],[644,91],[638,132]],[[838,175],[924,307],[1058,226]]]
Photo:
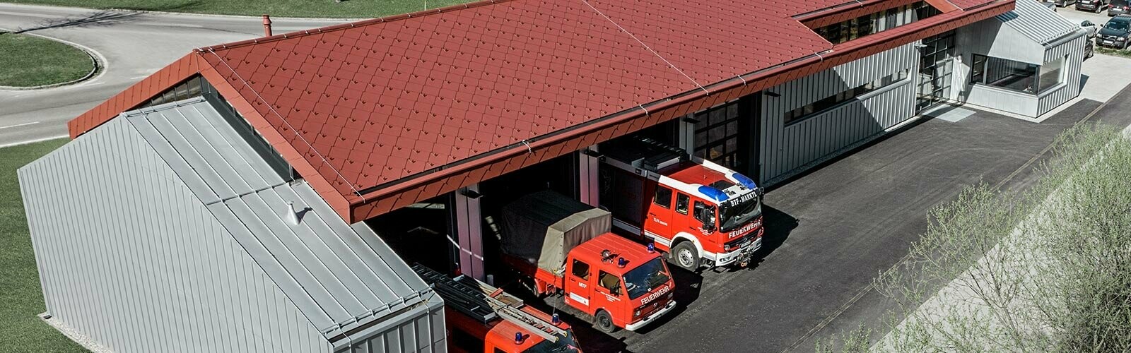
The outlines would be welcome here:
[[[580,353],[569,325],[478,279],[450,278],[420,264],[416,274],[443,298],[449,352]]]

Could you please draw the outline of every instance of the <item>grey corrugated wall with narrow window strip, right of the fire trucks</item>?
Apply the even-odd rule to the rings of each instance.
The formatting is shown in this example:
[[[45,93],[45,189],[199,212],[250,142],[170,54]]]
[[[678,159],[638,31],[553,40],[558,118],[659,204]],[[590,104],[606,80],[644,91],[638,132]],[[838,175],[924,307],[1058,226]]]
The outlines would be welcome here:
[[[912,43],[767,89],[780,96],[762,95],[761,181],[785,175],[912,118],[918,57]],[[784,114],[791,110],[900,70],[908,70],[907,79],[785,126]]]

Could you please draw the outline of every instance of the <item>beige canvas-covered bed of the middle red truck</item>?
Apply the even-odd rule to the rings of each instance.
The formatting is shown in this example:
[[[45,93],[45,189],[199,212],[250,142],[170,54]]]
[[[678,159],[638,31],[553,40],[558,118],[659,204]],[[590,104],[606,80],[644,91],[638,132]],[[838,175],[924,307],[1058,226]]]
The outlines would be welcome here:
[[[612,215],[554,191],[538,191],[502,207],[502,252],[562,276],[573,247],[607,233]]]

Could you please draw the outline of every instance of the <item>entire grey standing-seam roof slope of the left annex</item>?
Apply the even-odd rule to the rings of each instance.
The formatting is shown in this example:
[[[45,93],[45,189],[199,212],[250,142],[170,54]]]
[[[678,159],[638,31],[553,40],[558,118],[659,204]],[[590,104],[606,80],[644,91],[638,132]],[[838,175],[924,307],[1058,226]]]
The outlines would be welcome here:
[[[327,339],[431,295],[372,230],[275,174],[207,101],[123,115]],[[287,223],[287,203],[299,225]]]

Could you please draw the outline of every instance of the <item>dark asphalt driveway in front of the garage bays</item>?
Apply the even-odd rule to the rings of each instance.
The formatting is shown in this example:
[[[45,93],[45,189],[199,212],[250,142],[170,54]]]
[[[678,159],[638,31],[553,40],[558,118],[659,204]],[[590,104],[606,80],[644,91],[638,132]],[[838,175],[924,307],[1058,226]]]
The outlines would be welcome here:
[[[927,210],[978,182],[1025,188],[1052,140],[1089,114],[1131,123],[1131,91],[1100,105],[1079,101],[1041,123],[981,111],[912,123],[771,189],[754,268],[676,273],[685,305],[674,316],[612,337],[581,327],[578,338],[602,352],[806,352],[860,325],[882,330],[890,303],[869,284],[907,253]]]

